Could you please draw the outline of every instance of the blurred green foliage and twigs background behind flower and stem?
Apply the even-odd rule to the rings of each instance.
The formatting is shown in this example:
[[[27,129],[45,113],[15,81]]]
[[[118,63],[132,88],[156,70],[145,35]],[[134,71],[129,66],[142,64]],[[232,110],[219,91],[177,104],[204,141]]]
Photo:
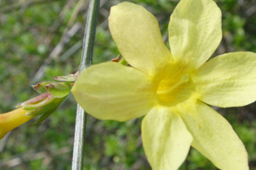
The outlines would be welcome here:
[[[179,0],[130,0],[151,11],[168,37],[169,16]],[[108,30],[111,6],[101,0],[93,63],[118,56]],[[256,0],[215,0],[222,11],[223,39],[213,56],[256,52]],[[0,0],[0,113],[37,95],[30,87],[53,76],[75,73],[81,56],[86,0]],[[167,42],[167,41],[166,41]],[[215,108],[231,123],[256,170],[256,103]],[[71,169],[76,102],[69,96],[40,125],[28,122],[0,141],[0,170]],[[140,136],[140,119],[101,121],[88,116],[84,170],[149,170]],[[180,170],[217,170],[191,149]]]

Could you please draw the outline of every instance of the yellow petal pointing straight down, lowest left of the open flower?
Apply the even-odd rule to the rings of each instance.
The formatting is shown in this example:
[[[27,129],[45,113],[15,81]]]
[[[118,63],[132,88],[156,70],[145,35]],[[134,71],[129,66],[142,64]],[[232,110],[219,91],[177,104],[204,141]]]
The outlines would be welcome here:
[[[153,170],[177,170],[186,159],[192,136],[178,114],[159,107],[143,119],[142,140]]]

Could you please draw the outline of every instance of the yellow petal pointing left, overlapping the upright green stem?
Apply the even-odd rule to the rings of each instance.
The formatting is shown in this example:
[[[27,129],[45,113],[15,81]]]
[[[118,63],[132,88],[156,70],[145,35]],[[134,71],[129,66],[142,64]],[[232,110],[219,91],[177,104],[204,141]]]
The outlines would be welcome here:
[[[116,62],[105,62],[83,71],[71,91],[90,115],[126,121],[143,116],[152,108],[155,88],[146,74]]]

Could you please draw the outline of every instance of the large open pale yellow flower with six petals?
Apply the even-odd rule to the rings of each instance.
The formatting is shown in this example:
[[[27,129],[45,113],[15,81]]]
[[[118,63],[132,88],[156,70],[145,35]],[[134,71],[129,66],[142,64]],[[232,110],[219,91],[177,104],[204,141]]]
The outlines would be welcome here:
[[[215,2],[180,0],[168,27],[171,50],[155,17],[133,3],[111,8],[109,28],[131,67],[105,62],[87,68],[72,89],[81,107],[98,119],[145,115],[143,147],[153,170],[177,170],[190,146],[221,170],[249,170],[241,140],[208,105],[256,100],[256,54],[234,52],[207,61],[222,37]]]

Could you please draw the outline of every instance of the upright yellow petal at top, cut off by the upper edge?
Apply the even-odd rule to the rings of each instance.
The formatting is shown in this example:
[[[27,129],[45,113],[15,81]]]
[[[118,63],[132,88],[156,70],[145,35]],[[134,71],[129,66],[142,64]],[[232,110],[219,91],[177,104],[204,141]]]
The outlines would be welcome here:
[[[221,41],[221,11],[213,0],[181,0],[168,29],[173,59],[198,68]]]

